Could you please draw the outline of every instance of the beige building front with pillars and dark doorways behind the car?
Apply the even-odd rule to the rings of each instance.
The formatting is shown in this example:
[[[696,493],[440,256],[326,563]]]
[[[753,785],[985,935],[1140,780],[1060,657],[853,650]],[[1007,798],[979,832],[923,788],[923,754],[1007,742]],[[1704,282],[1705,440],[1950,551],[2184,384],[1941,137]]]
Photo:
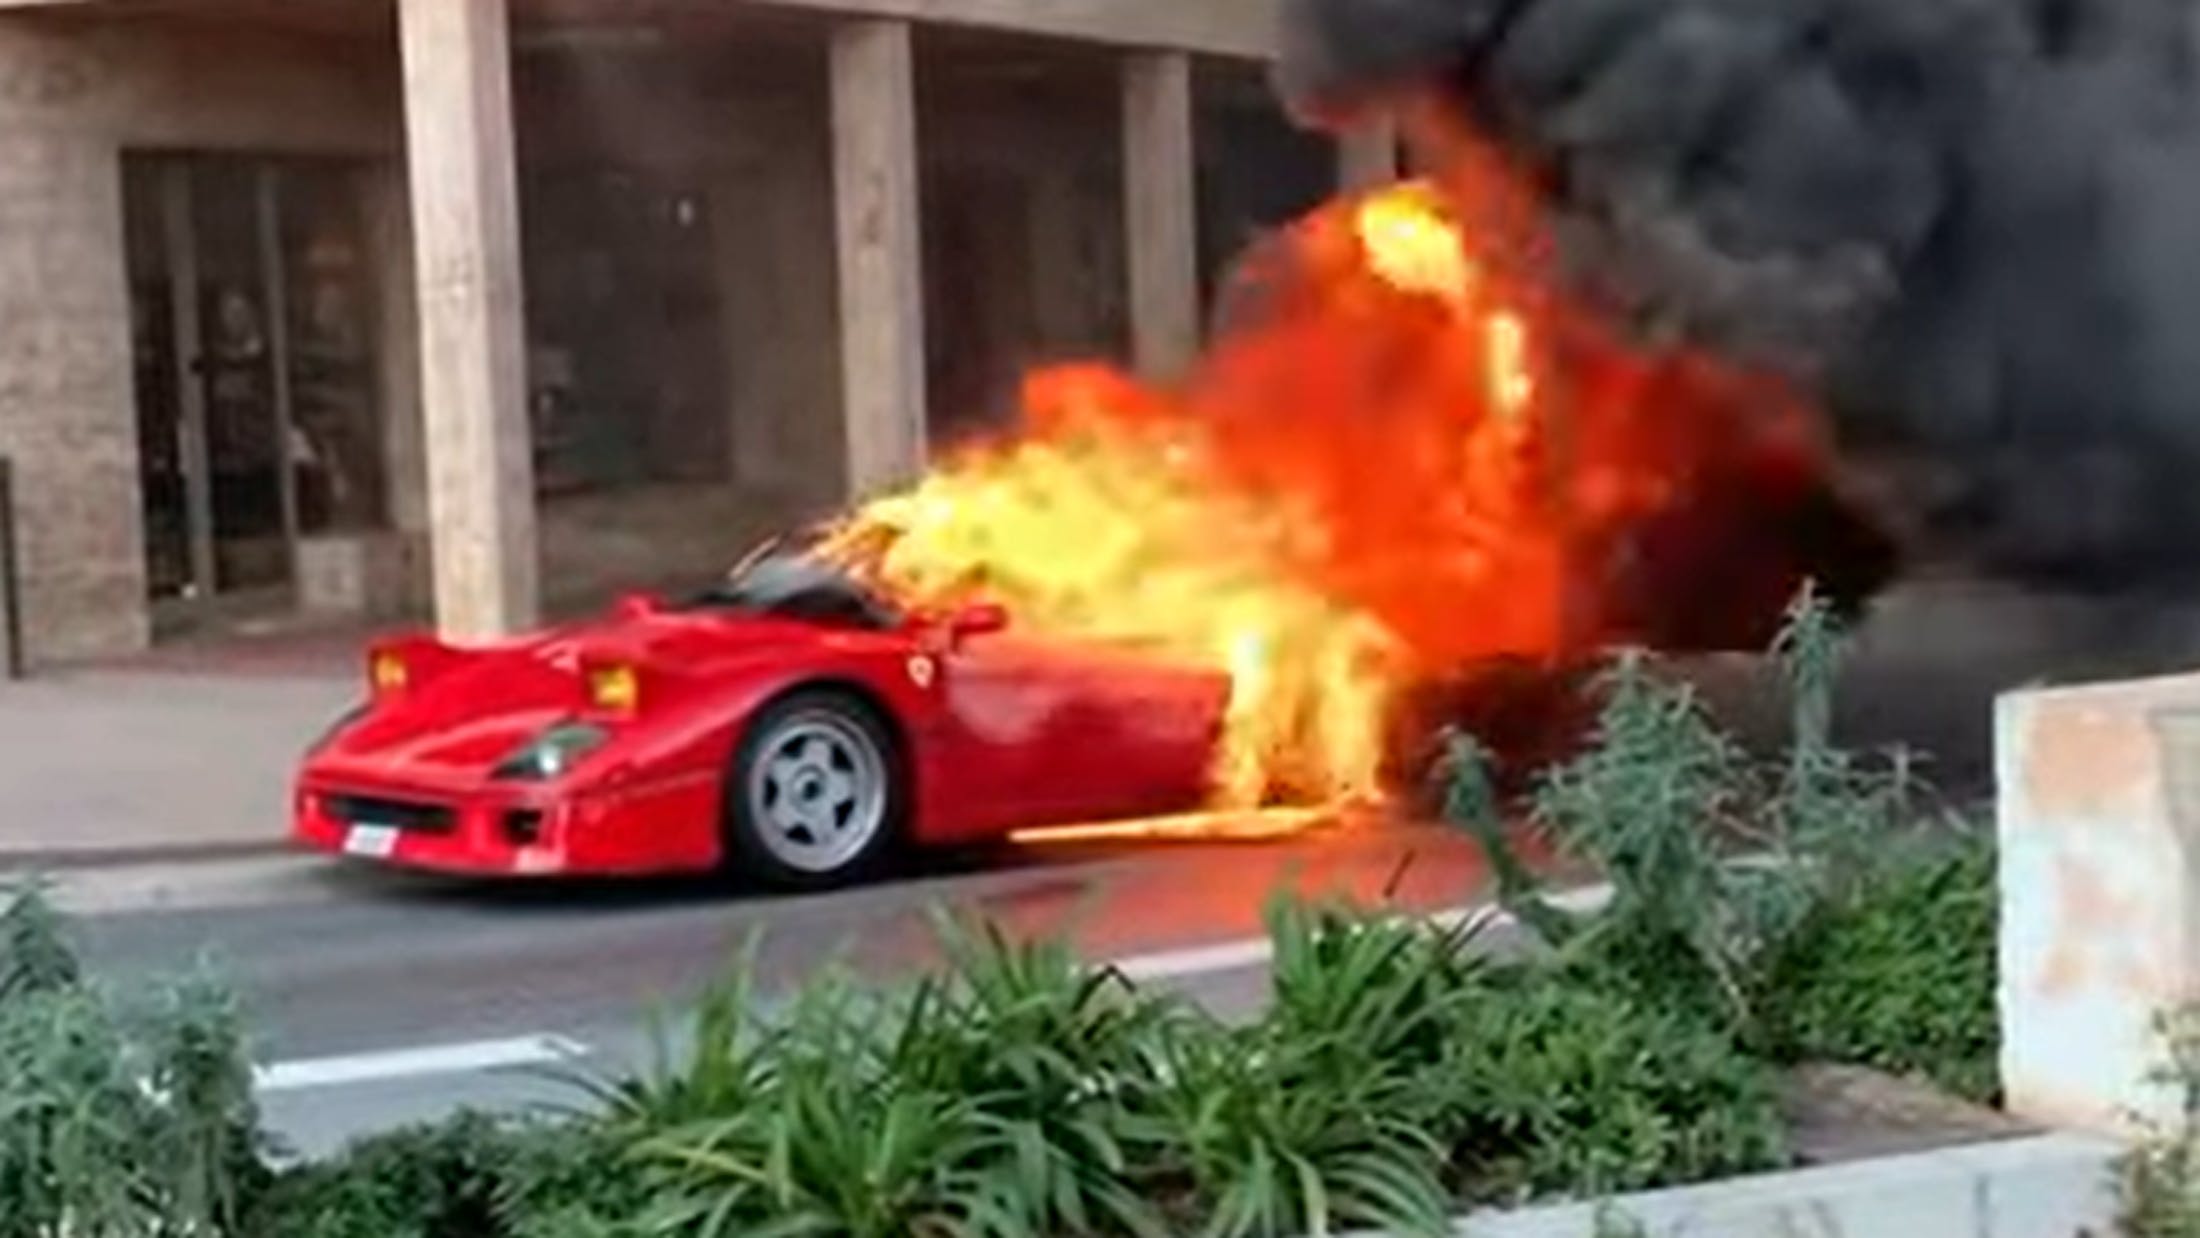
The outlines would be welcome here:
[[[1395,169],[1269,0],[0,0],[24,660],[722,570]]]

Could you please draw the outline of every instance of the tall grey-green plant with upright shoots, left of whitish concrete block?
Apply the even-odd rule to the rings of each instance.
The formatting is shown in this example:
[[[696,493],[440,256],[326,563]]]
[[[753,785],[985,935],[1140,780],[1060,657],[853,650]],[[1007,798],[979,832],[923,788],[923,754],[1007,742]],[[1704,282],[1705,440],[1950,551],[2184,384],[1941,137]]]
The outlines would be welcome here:
[[[1448,816],[1489,853],[1509,913],[1569,963],[1709,1012],[1760,1047],[1778,1040],[1767,1003],[1786,1001],[1767,968],[1793,957],[1806,926],[1830,932],[1839,915],[1866,915],[1861,904],[1918,862],[1907,833],[1921,816],[1905,754],[1866,761],[1833,739],[1841,631],[1824,598],[1795,598],[1771,653],[1793,704],[1791,743],[1771,770],[1641,653],[1602,675],[1588,748],[1531,803],[1533,820],[1613,884],[1593,915],[1560,913],[1514,853],[1481,745],[1454,737],[1443,770]],[[1736,844],[1769,862],[1736,864]]]

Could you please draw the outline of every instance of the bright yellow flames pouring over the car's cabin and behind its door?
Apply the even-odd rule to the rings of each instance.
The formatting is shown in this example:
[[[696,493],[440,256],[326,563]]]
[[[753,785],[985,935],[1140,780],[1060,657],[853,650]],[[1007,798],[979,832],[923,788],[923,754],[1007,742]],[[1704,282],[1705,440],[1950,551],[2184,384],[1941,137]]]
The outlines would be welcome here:
[[[860,508],[823,548],[902,598],[981,594],[1025,631],[1225,671],[1217,807],[1278,787],[1375,796],[1384,633],[1280,567],[1287,504],[1234,501],[1203,477],[1197,444],[1151,433],[1025,440]]]

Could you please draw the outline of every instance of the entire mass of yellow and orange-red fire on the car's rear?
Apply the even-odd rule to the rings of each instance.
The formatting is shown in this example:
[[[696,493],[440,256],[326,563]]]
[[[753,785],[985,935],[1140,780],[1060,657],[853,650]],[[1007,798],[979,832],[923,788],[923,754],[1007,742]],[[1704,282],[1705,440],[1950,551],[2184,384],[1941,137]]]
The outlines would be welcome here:
[[[1212,807],[1379,796],[1406,686],[1610,640],[1630,530],[1736,451],[1813,451],[1784,394],[1637,350],[1544,253],[1531,194],[1463,145],[1441,183],[1335,200],[1252,255],[1184,383],[1034,372],[1014,433],[825,548],[909,605],[997,600],[1025,631],[1228,671]]]

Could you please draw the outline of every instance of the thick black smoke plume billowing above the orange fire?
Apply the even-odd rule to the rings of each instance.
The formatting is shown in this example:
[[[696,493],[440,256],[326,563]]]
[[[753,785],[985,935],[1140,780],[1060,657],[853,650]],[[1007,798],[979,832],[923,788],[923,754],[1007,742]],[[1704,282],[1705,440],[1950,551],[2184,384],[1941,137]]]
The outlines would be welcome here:
[[[2193,0],[1287,0],[1278,90],[1434,88],[1569,275],[1804,378],[1927,554],[2200,578]]]

